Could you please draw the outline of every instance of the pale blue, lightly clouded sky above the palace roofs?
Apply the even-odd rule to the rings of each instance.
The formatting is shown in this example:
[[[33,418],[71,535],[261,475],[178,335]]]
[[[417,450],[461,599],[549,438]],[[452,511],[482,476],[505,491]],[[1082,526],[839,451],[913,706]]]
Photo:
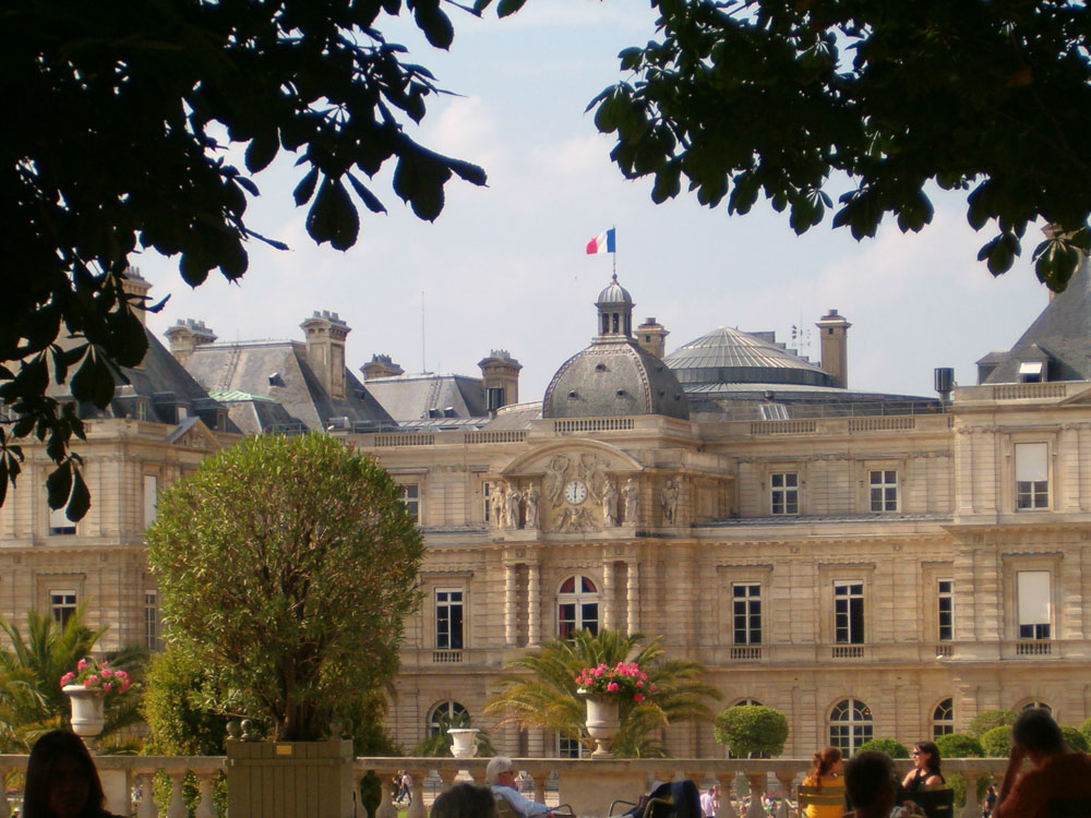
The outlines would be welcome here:
[[[590,342],[594,302],[615,261],[634,321],[655,316],[670,332],[668,352],[720,326],[775,330],[796,346],[796,325],[811,341],[803,353],[817,361],[814,323],[837,309],[852,323],[850,388],[934,396],[934,368],[954,366],[956,381],[972,385],[974,361],[1010,348],[1047,302],[1029,251],[999,278],[976,261],[992,234],[975,233],[961,199],[948,194],[933,196],[936,214],[921,233],[891,222],[863,242],[834,230],[828,216],[796,237],[786,214],[760,203],[746,216],[686,193],[654,204],[650,181],[622,178],[609,159],[612,139],[585,112],[624,79],[618,52],[655,36],[644,3],[531,0],[503,21],[449,13],[449,52],[404,21],[379,25],[453,92],[430,97],[410,135],[481,165],[488,187],[453,180],[441,216],[421,221],[391,190],[391,167],[371,185],[388,213],[361,206],[360,239],[341,253],[307,236],[307,208],[291,200],[301,172],[281,153],[254,178],[262,195],[247,220],[289,251],[251,242],[240,284],[214,272],[195,289],[177,257],[136,257],[152,296],[170,294],[148,316],[160,339],[178,320],[196,318],[223,341],[302,340],[300,323],[331,310],[351,327],[346,357],[358,376],[375,353],[410,373],[479,375],[478,361],[506,349],[524,368],[520,400],[540,400],[558,368]],[[616,228],[616,257],[587,255],[587,241],[608,227]]]

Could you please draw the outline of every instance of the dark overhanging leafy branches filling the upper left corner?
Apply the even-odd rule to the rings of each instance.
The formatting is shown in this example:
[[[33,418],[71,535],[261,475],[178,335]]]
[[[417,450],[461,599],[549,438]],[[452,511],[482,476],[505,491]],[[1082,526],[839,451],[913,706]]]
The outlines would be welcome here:
[[[481,13],[490,2],[4,3],[0,404],[13,419],[0,424],[0,504],[21,469],[13,440],[33,433],[58,466],[50,507],[84,516],[89,494],[68,450],[83,424],[47,387],[67,382],[79,404],[101,410],[117,366],[140,363],[147,342],[133,310],[156,306],[124,291],[135,252],[178,256],[197,286],[217,269],[241,277],[250,240],[285,246],[245,219],[259,193],[251,177],[281,151],[298,156],[292,199],[309,206],[308,233],[338,250],[357,241],[359,204],[385,212],[372,180],[387,163],[394,193],[422,219],[440,215],[452,177],[484,184],[481,168],[406,132],[439,88],[379,25],[407,11],[446,49],[445,9]],[[244,148],[244,167],[228,146]]]

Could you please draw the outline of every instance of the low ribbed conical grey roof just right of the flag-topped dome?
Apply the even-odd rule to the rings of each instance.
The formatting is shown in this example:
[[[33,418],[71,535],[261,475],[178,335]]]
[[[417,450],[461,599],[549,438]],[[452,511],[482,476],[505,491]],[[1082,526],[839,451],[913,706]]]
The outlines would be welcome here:
[[[698,385],[728,383],[832,386],[819,366],[755,333],[720,327],[663,359],[688,392]]]

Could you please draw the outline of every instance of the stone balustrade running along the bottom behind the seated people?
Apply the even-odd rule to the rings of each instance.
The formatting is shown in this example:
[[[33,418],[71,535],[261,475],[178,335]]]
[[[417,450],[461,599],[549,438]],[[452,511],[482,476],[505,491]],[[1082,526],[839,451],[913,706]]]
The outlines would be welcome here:
[[[223,756],[213,757],[170,757],[170,756],[98,756],[95,759],[107,790],[108,809],[119,815],[129,815],[131,805],[129,793],[134,786],[140,786],[142,798],[135,811],[135,818],[157,818],[155,798],[153,797],[153,779],[156,771],[167,774],[170,782],[170,798],[165,818],[187,818],[185,804],[182,801],[182,780],[187,772],[192,772],[197,779],[201,793],[200,803],[195,809],[195,818],[216,818],[216,809],[212,799],[213,781],[221,771],[227,770],[227,760]],[[408,770],[412,778],[412,804],[408,818],[427,818],[424,806],[424,782],[432,774],[439,774],[442,789],[451,786],[456,777],[459,780],[469,778],[484,783],[484,770],[488,759],[454,759],[454,758],[357,758],[352,765],[352,777],[359,792],[359,783],[373,770],[382,782],[383,798],[379,807],[377,818],[396,818],[397,809],[391,803],[392,779],[399,770]],[[909,761],[897,762],[901,773],[910,769]],[[1007,765],[1000,758],[967,758],[945,759],[945,774],[962,773],[967,780],[967,790],[971,794],[976,791],[976,782],[981,777],[992,773],[999,780]],[[26,767],[26,756],[0,756],[0,774],[7,775],[12,770],[23,770]],[[765,793],[767,789],[777,790],[772,784],[779,782],[779,791],[794,793],[794,787],[803,779],[810,767],[810,759],[777,758],[777,759],[556,759],[556,758],[516,758],[514,767],[525,771],[533,782],[535,801],[547,803],[547,781],[554,780],[555,795],[550,792],[549,801],[568,804],[579,816],[606,816],[614,799],[633,802],[652,784],[661,781],[674,781],[683,778],[692,779],[698,787],[707,789],[714,783],[720,785],[720,811],[717,818],[765,818],[766,813],[759,798],[744,797],[746,794]],[[769,786],[767,787],[767,782]],[[730,797],[729,797],[730,796]],[[160,798],[161,801],[163,798]],[[748,806],[741,809],[741,805]],[[784,799],[778,802],[776,818],[795,818],[791,803]],[[627,807],[619,807],[623,811]],[[0,789],[0,818],[9,818],[11,804],[7,794]],[[363,816],[362,807],[357,808],[357,816]],[[981,808],[971,797],[961,808],[958,818],[979,818]]]

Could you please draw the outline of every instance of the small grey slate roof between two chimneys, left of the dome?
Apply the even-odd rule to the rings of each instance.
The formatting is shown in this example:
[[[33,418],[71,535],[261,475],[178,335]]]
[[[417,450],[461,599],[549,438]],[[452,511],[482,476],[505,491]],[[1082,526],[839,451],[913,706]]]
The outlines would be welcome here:
[[[431,373],[395,375],[372,378],[365,386],[386,413],[398,422],[440,417],[481,418],[489,413],[479,377]]]

